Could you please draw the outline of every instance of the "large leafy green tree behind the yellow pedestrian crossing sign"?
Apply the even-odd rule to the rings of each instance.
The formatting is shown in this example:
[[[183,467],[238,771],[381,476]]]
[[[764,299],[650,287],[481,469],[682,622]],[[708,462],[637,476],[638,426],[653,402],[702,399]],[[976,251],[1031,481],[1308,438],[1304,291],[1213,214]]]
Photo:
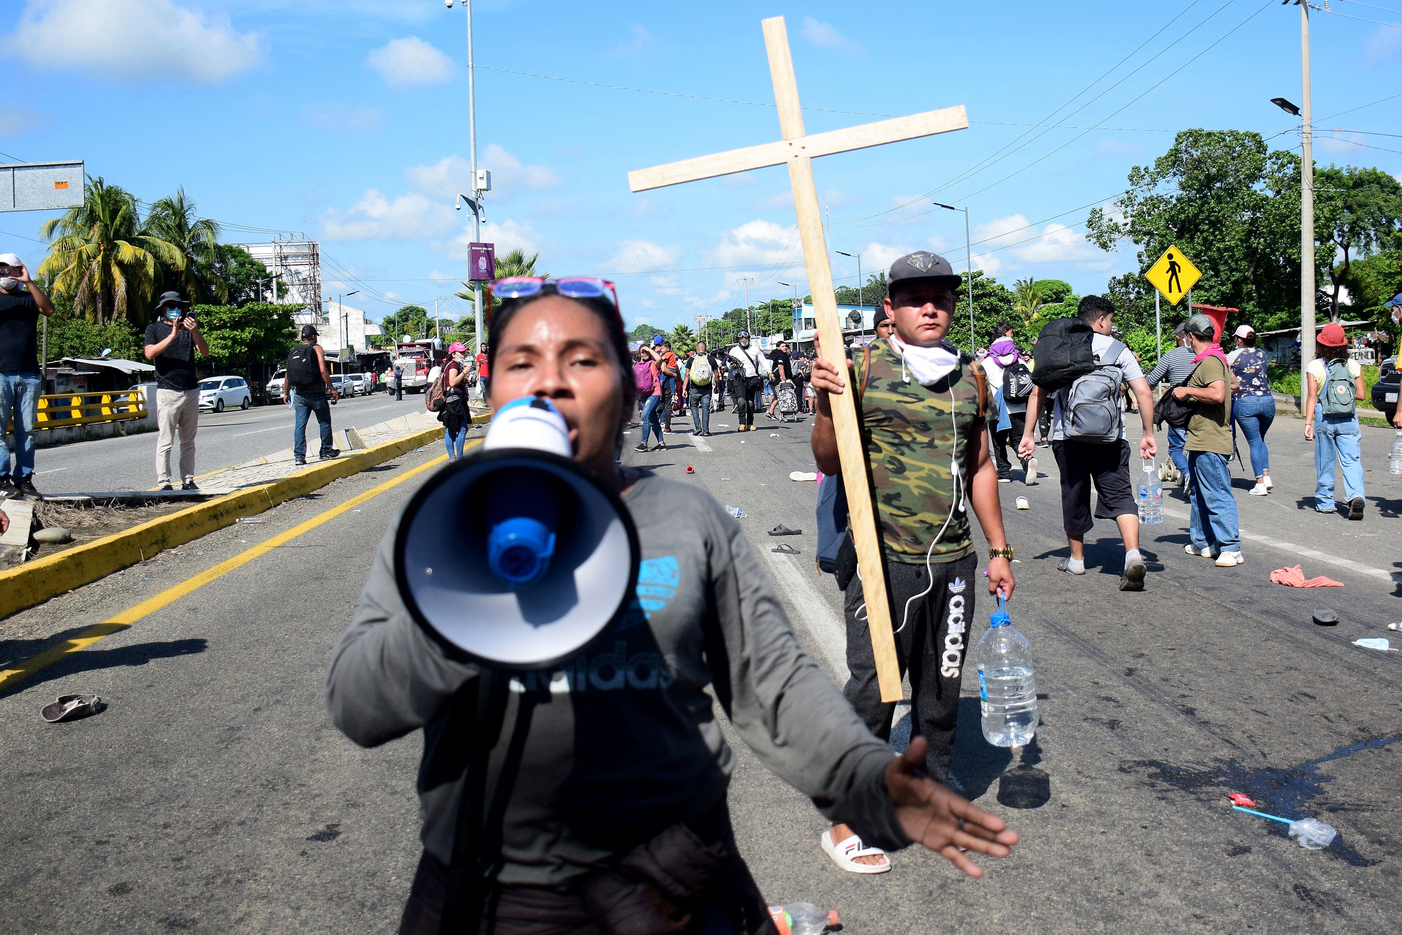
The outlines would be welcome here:
[[[1300,321],[1300,158],[1259,133],[1179,132],[1152,165],[1130,170],[1115,213],[1091,212],[1088,237],[1108,251],[1133,243],[1140,275],[1178,245],[1203,273],[1195,301],[1239,308],[1258,331]],[[1329,258],[1316,258],[1322,275]],[[1152,315],[1143,287],[1119,292],[1138,303],[1122,314]],[[1182,321],[1186,303],[1166,313],[1165,324]]]

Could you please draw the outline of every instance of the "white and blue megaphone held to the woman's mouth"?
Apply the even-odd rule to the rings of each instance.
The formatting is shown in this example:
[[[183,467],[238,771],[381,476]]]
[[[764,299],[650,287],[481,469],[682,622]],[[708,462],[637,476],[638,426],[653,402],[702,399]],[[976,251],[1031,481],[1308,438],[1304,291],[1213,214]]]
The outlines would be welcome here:
[[[522,397],[414,495],[394,558],[409,614],[450,656],[531,670],[628,608],[641,550],[618,495],[571,458],[559,411]]]

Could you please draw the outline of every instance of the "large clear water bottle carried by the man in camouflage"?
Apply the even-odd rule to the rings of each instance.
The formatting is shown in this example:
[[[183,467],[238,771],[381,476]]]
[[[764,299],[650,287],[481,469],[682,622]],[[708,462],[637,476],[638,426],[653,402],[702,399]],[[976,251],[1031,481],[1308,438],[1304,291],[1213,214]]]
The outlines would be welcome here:
[[[1037,732],[1037,680],[1032,648],[1012,628],[1002,594],[973,657],[979,666],[984,739],[995,747],[1021,747]]]

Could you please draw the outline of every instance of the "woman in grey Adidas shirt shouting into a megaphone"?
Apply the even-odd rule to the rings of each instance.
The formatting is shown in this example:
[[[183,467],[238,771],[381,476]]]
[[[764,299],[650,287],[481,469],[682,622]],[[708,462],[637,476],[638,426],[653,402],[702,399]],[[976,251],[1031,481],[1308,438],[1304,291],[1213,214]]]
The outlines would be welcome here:
[[[550,575],[561,578],[541,582],[562,585],[488,587],[486,572],[447,566],[454,550],[405,544],[414,537],[401,524],[435,521],[432,507],[418,509],[423,491],[387,530],[325,699],[362,746],[423,730],[423,855],[400,931],[773,932],[730,830],[735,757],[708,685],[765,765],[866,842],[890,851],[918,841],[970,876],[981,871],[966,851],[1007,856],[1018,835],[923,774],[923,739],[896,756],[866,730],[798,643],[735,520],[694,485],[614,461],[635,387],[613,285],[513,278],[494,294],[496,422],[523,404],[531,416],[562,416],[568,457],[540,464],[603,491],[638,561],[622,611],[607,611],[596,636],[564,657],[543,645],[544,666],[501,666],[485,650],[460,652],[443,638],[450,622],[426,622],[435,611],[425,608],[458,575],[470,582],[451,594],[464,617],[481,601],[519,600],[526,622],[501,615],[499,627],[527,625],[562,600],[561,587],[590,586],[569,579],[589,557],[571,558],[552,533]],[[468,451],[425,491],[512,457]],[[572,527],[561,520],[559,535]],[[439,568],[414,565],[419,554],[436,554]],[[538,632],[552,639],[548,625]]]

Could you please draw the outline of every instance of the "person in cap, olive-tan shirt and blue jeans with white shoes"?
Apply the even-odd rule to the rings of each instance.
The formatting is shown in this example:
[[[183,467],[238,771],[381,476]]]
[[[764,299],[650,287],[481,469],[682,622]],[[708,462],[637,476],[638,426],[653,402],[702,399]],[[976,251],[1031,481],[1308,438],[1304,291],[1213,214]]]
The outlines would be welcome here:
[[[1193,405],[1187,421],[1187,472],[1192,486],[1189,537],[1183,551],[1216,558],[1221,568],[1242,564],[1237,498],[1231,489],[1231,364],[1217,343],[1217,322],[1199,313],[1183,322],[1193,352],[1193,374],[1173,397]]]

